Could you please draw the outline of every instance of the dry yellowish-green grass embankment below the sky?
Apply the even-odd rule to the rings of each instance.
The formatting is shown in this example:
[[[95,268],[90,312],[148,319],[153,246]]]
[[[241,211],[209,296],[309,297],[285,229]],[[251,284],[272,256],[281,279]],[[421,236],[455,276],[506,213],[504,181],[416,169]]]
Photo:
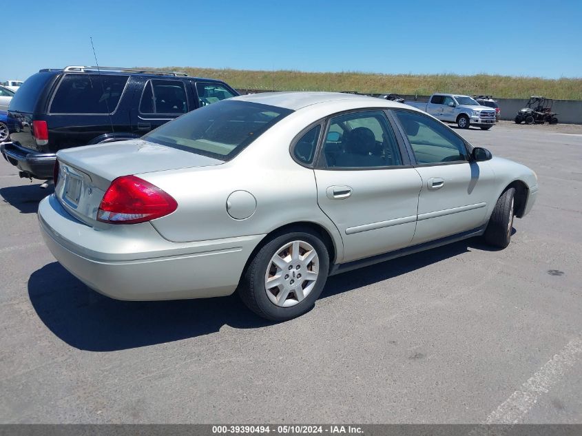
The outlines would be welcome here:
[[[490,94],[498,98],[548,98],[582,100],[582,77],[543,79],[525,76],[476,74],[376,74],[362,72],[256,71],[213,68],[172,67],[191,76],[222,79],[237,89],[279,91],[395,92],[430,95],[433,92]],[[166,68],[164,68],[166,70]]]

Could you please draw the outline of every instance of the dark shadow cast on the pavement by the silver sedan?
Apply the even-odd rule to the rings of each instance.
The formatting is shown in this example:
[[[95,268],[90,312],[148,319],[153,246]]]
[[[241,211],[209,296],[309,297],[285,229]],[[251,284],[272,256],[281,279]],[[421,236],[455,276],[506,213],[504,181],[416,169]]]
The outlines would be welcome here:
[[[490,250],[478,238],[472,238],[357,269],[329,278],[320,298],[415,271],[459,256],[469,248]],[[58,262],[32,273],[28,295],[39,318],[54,335],[87,351],[117,351],[194,338],[215,333],[225,325],[254,329],[274,324],[249,311],[236,294],[201,300],[113,300],[87,288]]]

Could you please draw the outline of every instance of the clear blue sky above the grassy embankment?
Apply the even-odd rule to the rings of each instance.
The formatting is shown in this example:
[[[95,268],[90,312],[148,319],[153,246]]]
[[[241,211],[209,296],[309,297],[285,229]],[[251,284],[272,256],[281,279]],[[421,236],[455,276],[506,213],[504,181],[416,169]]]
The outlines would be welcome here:
[[[0,80],[94,65],[90,37],[107,66],[582,76],[581,0],[28,0],[14,10]]]

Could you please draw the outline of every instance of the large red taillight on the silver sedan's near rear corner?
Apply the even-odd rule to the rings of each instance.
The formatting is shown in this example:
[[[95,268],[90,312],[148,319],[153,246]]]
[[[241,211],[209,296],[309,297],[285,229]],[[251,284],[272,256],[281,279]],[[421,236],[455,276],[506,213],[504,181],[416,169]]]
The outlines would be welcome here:
[[[176,200],[152,183],[136,176],[118,177],[105,192],[97,220],[111,224],[135,224],[172,214]]]

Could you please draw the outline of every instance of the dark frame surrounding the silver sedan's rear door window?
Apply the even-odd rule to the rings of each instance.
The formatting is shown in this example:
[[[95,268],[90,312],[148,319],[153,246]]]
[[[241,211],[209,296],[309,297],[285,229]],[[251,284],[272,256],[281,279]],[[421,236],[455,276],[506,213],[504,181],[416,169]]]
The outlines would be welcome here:
[[[391,120],[391,116],[388,116],[387,111],[389,107],[359,107],[357,109],[342,110],[340,112],[335,112],[324,118],[324,128],[322,129],[322,134],[320,134],[320,142],[318,144],[318,149],[315,152],[315,157],[313,158],[313,169],[322,169],[324,171],[376,171],[378,169],[403,169],[403,168],[413,168],[414,161],[410,160],[408,156],[408,149],[406,149],[404,141],[400,138],[401,135],[397,134],[398,127]],[[402,160],[402,165],[386,165],[384,167],[328,167],[323,156],[323,145],[324,138],[327,138],[327,133],[329,132],[329,127],[331,125],[331,119],[336,116],[342,116],[345,114],[355,114],[357,112],[382,112],[386,117],[386,122],[391,127],[394,137],[396,139],[397,150],[400,154],[400,160]],[[321,121],[321,120],[320,120]],[[313,123],[316,124],[316,123]]]

